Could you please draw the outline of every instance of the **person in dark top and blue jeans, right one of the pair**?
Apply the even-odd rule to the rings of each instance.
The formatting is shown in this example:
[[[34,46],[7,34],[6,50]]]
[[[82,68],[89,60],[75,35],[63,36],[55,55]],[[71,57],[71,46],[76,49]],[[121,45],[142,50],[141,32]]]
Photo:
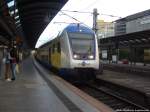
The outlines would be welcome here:
[[[10,50],[10,66],[11,66],[11,72],[12,72],[12,78],[11,80],[16,79],[16,64],[17,64],[17,49],[13,46]]]

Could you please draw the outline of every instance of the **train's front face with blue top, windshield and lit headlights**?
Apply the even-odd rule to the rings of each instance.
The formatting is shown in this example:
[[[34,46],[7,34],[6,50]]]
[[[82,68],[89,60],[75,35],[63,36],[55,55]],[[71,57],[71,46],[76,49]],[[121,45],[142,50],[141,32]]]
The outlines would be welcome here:
[[[79,70],[98,70],[99,53],[95,33],[84,26],[76,32],[68,32],[71,48],[70,66]]]

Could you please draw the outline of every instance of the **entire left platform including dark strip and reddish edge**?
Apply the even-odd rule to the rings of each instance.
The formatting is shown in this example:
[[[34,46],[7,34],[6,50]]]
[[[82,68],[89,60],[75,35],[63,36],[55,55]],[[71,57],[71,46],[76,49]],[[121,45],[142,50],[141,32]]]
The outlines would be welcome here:
[[[6,82],[3,77],[0,80],[0,112],[112,111],[77,88],[71,90],[67,82],[48,74],[32,58],[26,59],[21,67],[15,81]]]

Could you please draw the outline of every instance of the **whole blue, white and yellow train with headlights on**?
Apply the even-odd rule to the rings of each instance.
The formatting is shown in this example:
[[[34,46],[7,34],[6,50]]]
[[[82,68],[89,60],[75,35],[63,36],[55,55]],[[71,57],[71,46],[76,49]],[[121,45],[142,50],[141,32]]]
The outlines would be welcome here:
[[[41,46],[36,57],[64,78],[94,78],[95,71],[102,71],[97,37],[82,24],[69,24],[55,39]]]

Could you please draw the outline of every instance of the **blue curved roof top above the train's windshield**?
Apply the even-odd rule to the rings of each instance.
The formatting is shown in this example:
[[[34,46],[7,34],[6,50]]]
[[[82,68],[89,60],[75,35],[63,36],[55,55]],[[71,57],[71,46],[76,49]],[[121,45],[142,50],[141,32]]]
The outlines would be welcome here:
[[[82,24],[69,24],[64,30],[67,32],[81,32],[81,33],[90,33],[94,34],[94,31]]]

